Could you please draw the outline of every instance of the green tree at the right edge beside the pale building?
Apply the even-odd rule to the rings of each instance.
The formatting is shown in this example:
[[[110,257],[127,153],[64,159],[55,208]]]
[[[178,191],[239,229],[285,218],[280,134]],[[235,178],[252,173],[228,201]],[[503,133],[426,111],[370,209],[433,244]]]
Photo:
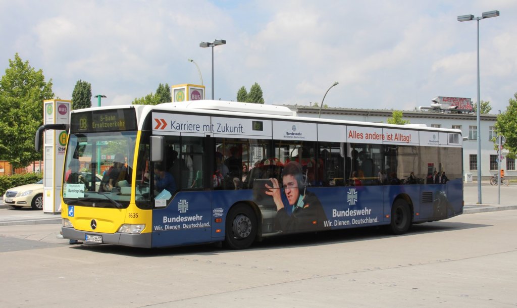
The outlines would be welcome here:
[[[508,157],[515,157],[517,153],[517,93],[508,100],[506,111],[497,116],[495,131],[497,135],[505,136],[506,143],[503,147],[510,150],[511,154]]]

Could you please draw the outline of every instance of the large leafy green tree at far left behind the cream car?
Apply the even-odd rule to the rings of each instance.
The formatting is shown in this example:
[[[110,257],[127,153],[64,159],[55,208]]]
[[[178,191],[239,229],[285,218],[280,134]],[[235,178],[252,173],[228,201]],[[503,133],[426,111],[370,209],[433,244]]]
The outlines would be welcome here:
[[[34,149],[34,134],[43,124],[43,100],[54,97],[52,79],[45,82],[18,53],[0,79],[0,160],[14,168],[42,159]]]

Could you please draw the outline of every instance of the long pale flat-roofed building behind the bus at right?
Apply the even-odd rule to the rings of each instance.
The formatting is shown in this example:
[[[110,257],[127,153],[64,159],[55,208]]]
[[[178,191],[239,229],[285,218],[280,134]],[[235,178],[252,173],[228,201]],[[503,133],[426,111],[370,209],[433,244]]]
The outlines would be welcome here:
[[[298,116],[317,118],[320,109],[317,107],[285,105]],[[392,116],[392,110],[372,109],[346,109],[327,108],[322,110],[322,118],[367,121],[387,123]],[[463,137],[463,172],[472,174],[477,180],[477,120],[474,113],[458,113],[444,111],[403,111],[403,119],[409,120],[411,124],[425,124],[428,127],[454,128],[462,131]],[[497,173],[497,150],[492,142],[495,137],[495,122],[497,115],[483,114],[481,122],[481,178],[488,180]],[[501,169],[505,171],[505,177],[517,177],[515,159],[504,159],[501,161]]]

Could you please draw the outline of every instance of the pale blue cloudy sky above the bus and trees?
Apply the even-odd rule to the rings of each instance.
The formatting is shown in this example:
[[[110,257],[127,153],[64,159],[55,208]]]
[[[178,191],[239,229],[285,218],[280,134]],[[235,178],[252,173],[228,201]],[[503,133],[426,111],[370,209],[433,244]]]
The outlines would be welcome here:
[[[413,110],[436,96],[504,112],[517,93],[517,1],[0,0],[0,75],[18,53],[60,99],[79,80],[102,105],[130,104],[160,83],[200,84],[236,100],[256,82],[266,104]],[[513,17],[512,17],[513,16]],[[194,63],[187,59],[191,58]],[[97,100],[92,98],[93,105]]]

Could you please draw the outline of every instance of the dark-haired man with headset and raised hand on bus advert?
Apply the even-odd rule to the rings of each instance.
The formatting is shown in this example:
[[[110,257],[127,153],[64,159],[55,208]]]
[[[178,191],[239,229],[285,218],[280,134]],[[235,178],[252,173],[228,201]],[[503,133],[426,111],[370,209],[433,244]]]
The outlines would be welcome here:
[[[266,194],[273,197],[277,206],[277,223],[282,231],[325,229],[327,220],[320,200],[314,193],[305,189],[302,167],[296,161],[288,162],[282,170],[282,182],[285,195],[282,195],[280,183],[270,178],[272,187],[266,186]]]

